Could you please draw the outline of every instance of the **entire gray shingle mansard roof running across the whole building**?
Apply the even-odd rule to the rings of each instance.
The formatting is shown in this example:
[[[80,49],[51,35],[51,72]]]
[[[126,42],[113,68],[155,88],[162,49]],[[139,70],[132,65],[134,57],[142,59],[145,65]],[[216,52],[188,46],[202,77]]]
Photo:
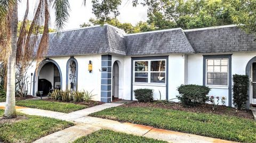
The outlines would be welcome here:
[[[39,36],[40,39],[40,36]],[[49,34],[45,56],[84,54],[157,55],[170,53],[224,53],[256,51],[254,36],[235,26],[135,33],[108,24]],[[38,44],[35,47],[37,51]]]

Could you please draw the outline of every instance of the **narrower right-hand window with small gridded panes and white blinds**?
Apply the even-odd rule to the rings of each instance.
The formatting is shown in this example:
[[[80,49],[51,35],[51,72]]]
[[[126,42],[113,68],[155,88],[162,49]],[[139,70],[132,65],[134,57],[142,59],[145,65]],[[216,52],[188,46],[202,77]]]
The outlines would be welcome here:
[[[207,85],[228,85],[228,58],[206,59]]]

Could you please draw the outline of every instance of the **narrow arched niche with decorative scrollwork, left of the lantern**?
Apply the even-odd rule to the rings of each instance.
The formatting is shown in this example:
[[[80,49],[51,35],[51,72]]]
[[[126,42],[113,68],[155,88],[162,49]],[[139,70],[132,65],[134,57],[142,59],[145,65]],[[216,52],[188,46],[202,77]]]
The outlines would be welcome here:
[[[70,57],[67,62],[66,89],[77,91],[78,64],[74,57]]]

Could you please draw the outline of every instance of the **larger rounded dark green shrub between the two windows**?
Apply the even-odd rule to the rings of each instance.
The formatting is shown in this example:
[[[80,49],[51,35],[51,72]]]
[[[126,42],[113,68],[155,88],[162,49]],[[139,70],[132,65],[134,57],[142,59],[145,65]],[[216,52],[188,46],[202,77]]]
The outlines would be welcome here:
[[[206,86],[181,85],[178,87],[180,95],[178,95],[177,98],[180,100],[183,106],[195,106],[209,100],[207,95],[209,94],[210,90],[211,89]]]

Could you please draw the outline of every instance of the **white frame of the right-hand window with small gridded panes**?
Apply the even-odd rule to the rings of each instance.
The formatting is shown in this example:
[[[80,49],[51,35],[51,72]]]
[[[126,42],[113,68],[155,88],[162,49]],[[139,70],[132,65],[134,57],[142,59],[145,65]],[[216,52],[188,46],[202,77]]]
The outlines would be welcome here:
[[[208,63],[207,63],[207,60],[227,60],[228,61],[228,67],[227,67],[227,85],[208,85],[207,83],[207,66],[208,66]],[[221,73],[221,72],[220,72]],[[229,86],[229,58],[205,58],[205,85],[206,86],[209,86],[209,87],[215,87],[215,88],[228,88]]]

